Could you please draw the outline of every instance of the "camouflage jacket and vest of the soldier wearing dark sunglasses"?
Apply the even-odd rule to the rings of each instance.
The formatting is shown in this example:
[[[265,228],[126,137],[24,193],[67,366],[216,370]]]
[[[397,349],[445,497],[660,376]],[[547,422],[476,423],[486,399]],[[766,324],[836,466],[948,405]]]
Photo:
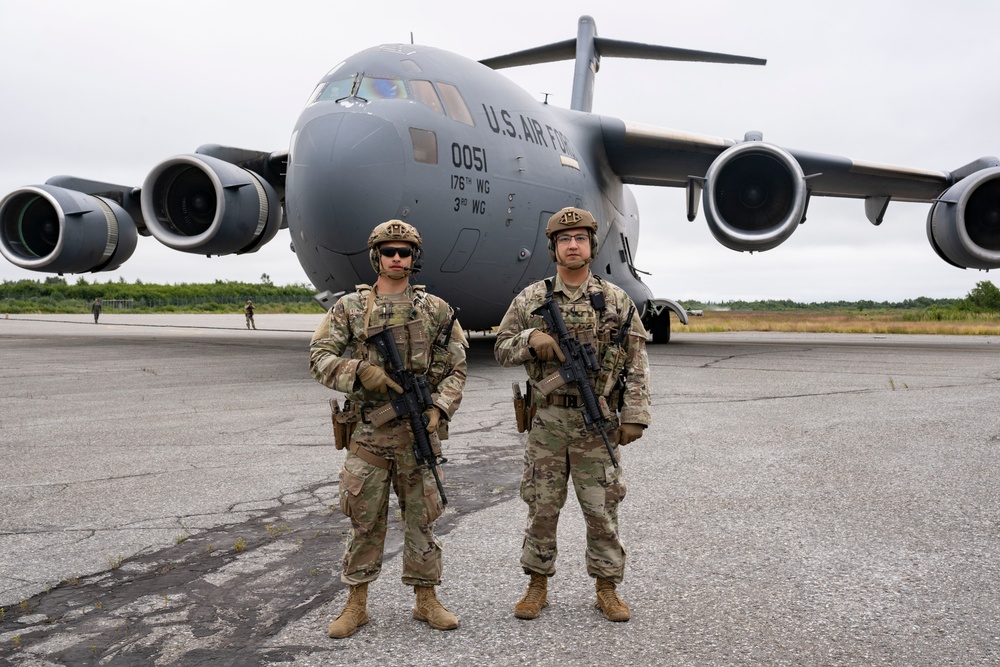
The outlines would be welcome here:
[[[352,402],[381,405],[389,396],[365,389],[357,379],[362,360],[381,367],[384,363],[374,345],[365,343],[365,309],[372,288],[358,285],[355,290],[342,296],[316,328],[309,345],[309,372]],[[376,293],[368,316],[369,331],[401,328],[402,340],[397,336],[400,357],[409,370],[427,376],[434,405],[446,419],[451,419],[462,402],[465,349],[469,346],[453,315],[443,299],[428,294],[420,285],[410,285],[399,300]]]

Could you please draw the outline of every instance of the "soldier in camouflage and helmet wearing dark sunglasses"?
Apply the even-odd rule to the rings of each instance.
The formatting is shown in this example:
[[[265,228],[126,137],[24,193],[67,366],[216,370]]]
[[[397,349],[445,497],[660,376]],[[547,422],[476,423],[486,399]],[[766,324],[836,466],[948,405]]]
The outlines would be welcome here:
[[[312,376],[347,395],[335,418],[352,429],[344,437],[348,453],[340,472],[340,507],[352,527],[341,579],[351,589],[344,611],[328,628],[337,638],[368,622],[368,583],[382,569],[390,487],[405,524],[403,584],[413,586],[417,596],[413,617],[437,630],[458,627],[434,593],[441,583],[434,522],[444,511],[442,499],[429,466],[417,466],[409,421],[394,413],[386,420],[389,392],[402,388],[383,370],[379,352],[366,339],[393,328],[403,363],[426,375],[433,406],[424,415],[437,452],[439,434],[447,437],[447,422],[462,401],[468,342],[447,303],[409,284],[421,249],[415,228],[399,220],[384,222],[372,231],[368,247],[378,272],[375,285],[358,285],[334,304],[313,334],[309,356]]]

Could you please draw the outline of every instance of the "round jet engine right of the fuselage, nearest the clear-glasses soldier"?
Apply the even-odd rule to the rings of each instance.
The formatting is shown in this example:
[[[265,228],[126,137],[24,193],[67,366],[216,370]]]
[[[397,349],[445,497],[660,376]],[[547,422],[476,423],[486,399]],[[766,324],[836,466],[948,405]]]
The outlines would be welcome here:
[[[795,158],[759,141],[726,149],[705,175],[708,227],[731,250],[758,252],[784,243],[802,222],[807,199]]]

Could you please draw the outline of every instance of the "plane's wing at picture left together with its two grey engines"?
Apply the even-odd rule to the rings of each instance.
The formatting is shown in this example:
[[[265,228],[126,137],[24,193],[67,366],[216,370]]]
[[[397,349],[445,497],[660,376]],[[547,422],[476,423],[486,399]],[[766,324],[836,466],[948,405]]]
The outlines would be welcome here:
[[[142,187],[55,176],[0,201],[0,253],[21,268],[118,268],[139,235],[199,255],[255,252],[286,226],[288,151],[208,144],[159,163]]]

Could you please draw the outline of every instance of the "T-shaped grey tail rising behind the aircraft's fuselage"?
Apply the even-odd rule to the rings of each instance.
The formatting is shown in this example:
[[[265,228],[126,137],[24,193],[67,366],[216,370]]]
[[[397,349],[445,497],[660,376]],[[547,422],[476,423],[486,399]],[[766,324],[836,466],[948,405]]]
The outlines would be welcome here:
[[[597,25],[589,16],[581,16],[576,39],[538,46],[479,62],[493,69],[538,65],[560,60],[576,60],[573,71],[573,97],[570,108],[589,113],[594,105],[594,75],[601,68],[601,57],[640,58],[644,60],[679,60],[685,62],[726,63],[732,65],[764,65],[766,60],[733,56],[711,51],[693,51],[673,46],[656,46],[639,42],[623,42],[597,36]]]

